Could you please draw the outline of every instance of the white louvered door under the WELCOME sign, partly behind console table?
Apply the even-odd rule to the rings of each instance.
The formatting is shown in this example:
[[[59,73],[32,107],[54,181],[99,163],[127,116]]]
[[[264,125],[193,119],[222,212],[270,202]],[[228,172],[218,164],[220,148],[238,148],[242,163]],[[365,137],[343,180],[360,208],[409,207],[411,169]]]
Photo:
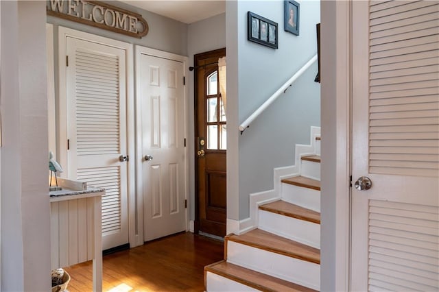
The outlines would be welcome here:
[[[102,248],[128,243],[126,51],[67,38],[69,178],[106,189]]]

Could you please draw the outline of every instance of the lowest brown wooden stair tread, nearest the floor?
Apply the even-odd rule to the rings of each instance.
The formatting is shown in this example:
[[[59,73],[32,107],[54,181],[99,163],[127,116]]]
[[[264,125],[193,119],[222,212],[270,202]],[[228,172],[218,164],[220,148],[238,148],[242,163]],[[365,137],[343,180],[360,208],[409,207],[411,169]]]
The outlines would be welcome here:
[[[227,263],[225,260],[204,267],[204,272],[206,273],[207,271],[261,291],[316,291],[292,282],[274,278],[265,273],[259,273],[245,267]]]

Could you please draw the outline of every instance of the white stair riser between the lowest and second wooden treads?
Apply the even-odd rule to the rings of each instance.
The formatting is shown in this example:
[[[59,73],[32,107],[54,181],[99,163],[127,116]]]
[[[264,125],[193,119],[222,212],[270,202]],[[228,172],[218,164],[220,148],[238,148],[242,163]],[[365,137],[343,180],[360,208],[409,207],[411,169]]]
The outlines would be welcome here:
[[[227,241],[227,261],[320,291],[320,265]]]

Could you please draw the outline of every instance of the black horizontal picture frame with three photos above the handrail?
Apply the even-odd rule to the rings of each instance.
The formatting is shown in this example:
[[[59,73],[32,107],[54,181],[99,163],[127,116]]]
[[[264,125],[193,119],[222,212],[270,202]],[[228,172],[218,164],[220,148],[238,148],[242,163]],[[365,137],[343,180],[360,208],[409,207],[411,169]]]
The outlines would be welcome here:
[[[278,48],[278,25],[270,19],[247,12],[248,34],[247,39],[250,42],[257,42],[259,45]]]

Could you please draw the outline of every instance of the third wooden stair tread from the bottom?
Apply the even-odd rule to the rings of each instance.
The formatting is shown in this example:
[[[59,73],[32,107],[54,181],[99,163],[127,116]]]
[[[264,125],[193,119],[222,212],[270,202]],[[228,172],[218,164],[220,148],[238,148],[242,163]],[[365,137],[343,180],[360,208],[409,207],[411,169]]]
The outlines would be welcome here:
[[[292,217],[312,223],[320,224],[320,213],[314,210],[309,210],[301,206],[278,200],[276,202],[263,204],[259,209],[276,214]]]

